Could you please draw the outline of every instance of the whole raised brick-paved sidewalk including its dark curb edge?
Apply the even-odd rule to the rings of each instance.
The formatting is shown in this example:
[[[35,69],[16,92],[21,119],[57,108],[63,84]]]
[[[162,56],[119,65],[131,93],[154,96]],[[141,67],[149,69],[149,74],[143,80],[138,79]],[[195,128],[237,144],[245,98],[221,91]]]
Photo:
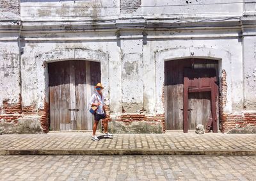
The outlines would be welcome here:
[[[256,155],[256,134],[115,134],[100,141],[90,136],[90,132],[0,135],[0,155]]]

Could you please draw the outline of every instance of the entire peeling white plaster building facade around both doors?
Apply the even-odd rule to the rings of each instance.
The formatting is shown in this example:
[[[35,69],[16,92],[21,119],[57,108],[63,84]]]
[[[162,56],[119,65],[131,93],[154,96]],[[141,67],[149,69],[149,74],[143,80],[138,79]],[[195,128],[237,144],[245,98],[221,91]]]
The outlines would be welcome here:
[[[1,3],[1,18],[20,19],[0,20],[0,120],[8,132],[9,122],[28,127],[25,120],[47,132],[47,63],[67,59],[100,61],[114,127],[147,122],[157,132],[164,132],[164,61],[218,59],[223,131],[256,125],[253,0],[20,0],[20,16],[12,8],[19,1]]]

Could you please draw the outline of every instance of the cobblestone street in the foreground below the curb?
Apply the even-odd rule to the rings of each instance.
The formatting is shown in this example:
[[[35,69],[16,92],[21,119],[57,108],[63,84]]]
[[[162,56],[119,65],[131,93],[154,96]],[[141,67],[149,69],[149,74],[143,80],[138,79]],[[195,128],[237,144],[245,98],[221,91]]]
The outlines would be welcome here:
[[[0,180],[256,180],[256,156],[0,156]]]

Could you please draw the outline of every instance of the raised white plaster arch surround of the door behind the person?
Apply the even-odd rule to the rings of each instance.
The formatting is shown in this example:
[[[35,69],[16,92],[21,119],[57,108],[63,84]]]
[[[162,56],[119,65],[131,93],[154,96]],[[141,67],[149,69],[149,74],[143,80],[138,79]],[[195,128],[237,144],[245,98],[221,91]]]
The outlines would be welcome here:
[[[49,129],[49,74],[48,63],[65,60],[96,61],[100,63],[101,82],[104,84],[104,97],[109,99],[109,54],[90,49],[58,49],[54,51],[37,54],[36,73],[38,79],[38,109],[47,109],[48,122],[42,123],[42,126]]]

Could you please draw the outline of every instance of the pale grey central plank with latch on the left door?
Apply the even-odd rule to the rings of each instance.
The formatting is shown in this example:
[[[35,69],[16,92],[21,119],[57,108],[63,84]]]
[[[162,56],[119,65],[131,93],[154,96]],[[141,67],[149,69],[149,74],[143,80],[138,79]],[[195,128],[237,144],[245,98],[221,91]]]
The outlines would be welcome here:
[[[69,61],[69,81],[70,81],[70,109],[76,108],[76,85],[75,85],[75,63],[73,61]],[[70,111],[70,127],[72,130],[76,130],[76,113],[74,111]]]

